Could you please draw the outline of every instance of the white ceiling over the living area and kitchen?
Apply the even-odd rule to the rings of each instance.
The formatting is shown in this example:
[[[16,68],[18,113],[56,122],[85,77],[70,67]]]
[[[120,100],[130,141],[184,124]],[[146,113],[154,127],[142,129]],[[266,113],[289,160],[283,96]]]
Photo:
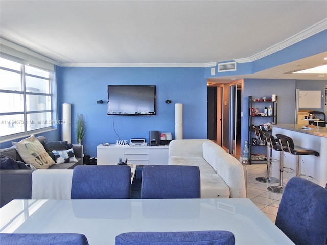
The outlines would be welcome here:
[[[326,18],[325,0],[0,0],[1,37],[59,65],[204,67],[251,57]],[[309,65],[322,64],[321,56],[326,54],[311,57]],[[289,64],[288,71],[295,70],[292,65],[295,63]],[[272,69],[251,76],[274,78],[276,72]]]

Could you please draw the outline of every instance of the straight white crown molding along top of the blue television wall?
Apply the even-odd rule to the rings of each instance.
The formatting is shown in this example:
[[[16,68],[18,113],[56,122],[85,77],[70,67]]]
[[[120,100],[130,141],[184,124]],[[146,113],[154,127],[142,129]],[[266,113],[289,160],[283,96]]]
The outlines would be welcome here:
[[[62,67],[165,67],[165,68],[206,68],[216,66],[211,63],[58,63]]]

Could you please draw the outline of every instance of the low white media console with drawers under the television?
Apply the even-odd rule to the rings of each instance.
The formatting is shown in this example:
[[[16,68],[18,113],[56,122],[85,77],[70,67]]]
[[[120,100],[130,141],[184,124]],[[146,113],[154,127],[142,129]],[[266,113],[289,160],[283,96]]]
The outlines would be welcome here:
[[[168,165],[169,146],[97,146],[98,165],[116,165],[118,159],[127,158],[135,165]]]

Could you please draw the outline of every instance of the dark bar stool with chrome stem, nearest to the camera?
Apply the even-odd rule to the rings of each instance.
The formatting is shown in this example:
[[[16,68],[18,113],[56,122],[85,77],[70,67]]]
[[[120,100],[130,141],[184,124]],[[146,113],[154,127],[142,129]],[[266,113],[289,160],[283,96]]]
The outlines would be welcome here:
[[[283,134],[276,134],[276,137],[279,140],[279,144],[282,145],[282,149],[284,152],[289,152],[290,154],[296,156],[296,176],[307,176],[310,177],[310,180],[312,180],[313,179],[312,176],[301,174],[300,157],[302,155],[315,155],[316,157],[318,157],[319,152],[311,149],[295,146],[293,139],[289,136]]]

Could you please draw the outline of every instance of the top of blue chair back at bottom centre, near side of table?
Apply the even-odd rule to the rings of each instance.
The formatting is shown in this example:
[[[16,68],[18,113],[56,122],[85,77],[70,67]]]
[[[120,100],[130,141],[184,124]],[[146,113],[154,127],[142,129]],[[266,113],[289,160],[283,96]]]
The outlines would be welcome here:
[[[234,245],[230,231],[127,232],[116,236],[115,245]]]

